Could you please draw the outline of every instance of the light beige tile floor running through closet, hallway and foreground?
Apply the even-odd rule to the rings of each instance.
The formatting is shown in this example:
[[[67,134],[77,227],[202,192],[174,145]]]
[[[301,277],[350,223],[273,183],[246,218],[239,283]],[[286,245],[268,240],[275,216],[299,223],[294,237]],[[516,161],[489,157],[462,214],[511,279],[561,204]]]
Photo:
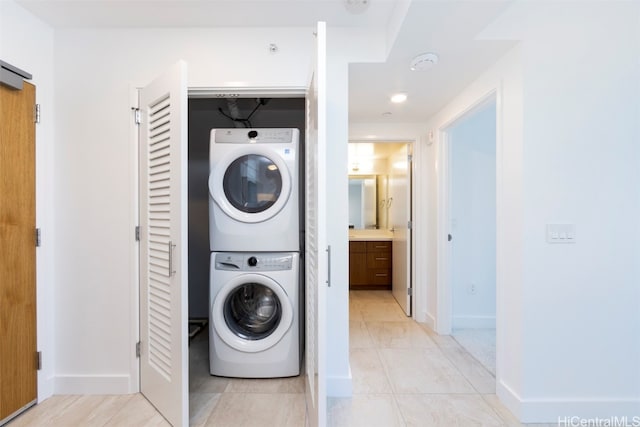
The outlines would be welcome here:
[[[350,313],[353,397],[329,399],[329,427],[521,425],[495,396],[493,375],[451,337],[407,318],[390,292],[352,291]],[[189,381],[192,426],[306,425],[301,377],[212,377],[206,334],[191,344]],[[9,423],[43,425],[169,424],[140,394],[54,396]]]

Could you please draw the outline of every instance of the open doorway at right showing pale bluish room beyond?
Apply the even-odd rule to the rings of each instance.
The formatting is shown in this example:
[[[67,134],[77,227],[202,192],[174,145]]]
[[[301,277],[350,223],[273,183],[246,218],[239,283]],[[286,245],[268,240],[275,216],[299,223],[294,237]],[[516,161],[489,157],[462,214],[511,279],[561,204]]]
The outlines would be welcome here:
[[[496,373],[496,98],[444,131],[448,332]]]

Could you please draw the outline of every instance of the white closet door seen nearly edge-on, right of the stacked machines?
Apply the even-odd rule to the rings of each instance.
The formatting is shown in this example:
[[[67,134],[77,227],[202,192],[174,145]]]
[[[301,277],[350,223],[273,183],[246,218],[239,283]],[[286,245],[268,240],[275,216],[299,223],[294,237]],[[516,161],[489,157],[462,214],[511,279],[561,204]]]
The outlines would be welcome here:
[[[326,424],[326,287],[330,250],[326,209],[326,25],[316,30],[316,54],[307,93],[306,135],[306,397],[309,425]]]

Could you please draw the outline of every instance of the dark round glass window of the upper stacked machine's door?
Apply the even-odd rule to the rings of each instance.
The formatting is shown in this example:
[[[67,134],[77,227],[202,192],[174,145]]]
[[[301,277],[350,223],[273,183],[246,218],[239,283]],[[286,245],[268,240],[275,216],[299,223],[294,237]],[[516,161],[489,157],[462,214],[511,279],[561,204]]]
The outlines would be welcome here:
[[[258,213],[273,206],[282,192],[282,175],[268,157],[248,154],[235,159],[223,178],[224,194],[241,212]]]

